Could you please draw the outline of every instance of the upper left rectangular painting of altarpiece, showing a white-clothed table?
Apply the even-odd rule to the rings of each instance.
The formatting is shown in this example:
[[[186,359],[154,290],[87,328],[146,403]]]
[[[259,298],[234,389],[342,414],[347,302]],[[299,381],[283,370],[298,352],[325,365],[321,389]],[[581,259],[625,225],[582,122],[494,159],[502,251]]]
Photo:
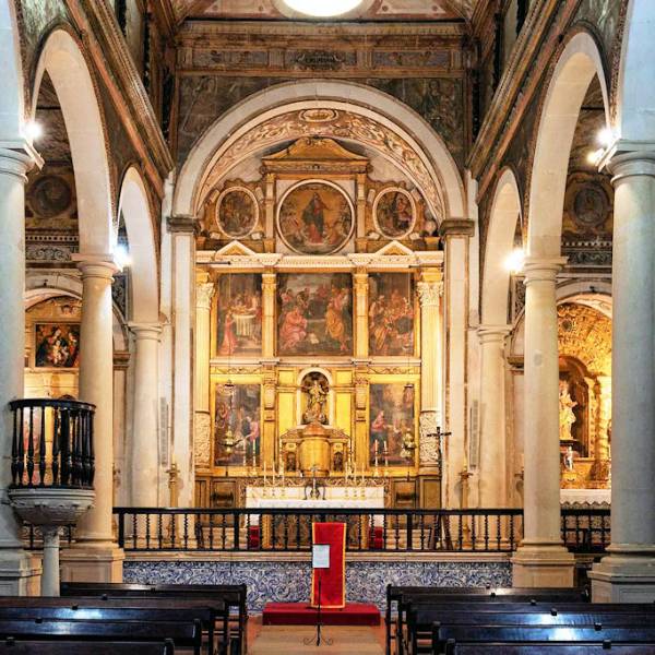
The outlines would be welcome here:
[[[216,354],[259,355],[262,350],[262,278],[255,273],[221,275]]]

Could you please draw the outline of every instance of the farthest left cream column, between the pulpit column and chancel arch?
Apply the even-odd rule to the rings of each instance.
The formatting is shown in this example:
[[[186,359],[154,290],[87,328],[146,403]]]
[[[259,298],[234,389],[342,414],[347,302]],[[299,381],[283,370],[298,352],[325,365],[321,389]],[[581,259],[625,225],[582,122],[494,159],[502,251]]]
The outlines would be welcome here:
[[[134,334],[132,439],[130,448],[130,501],[132,507],[166,505],[159,495],[158,360],[159,323],[131,323]],[[128,462],[126,462],[128,464]]]

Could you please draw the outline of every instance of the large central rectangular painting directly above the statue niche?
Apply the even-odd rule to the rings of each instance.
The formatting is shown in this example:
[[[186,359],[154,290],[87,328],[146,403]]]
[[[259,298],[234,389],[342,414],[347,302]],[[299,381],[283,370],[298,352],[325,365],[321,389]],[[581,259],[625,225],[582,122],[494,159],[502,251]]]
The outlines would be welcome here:
[[[353,354],[353,281],[349,274],[278,275],[277,354]]]

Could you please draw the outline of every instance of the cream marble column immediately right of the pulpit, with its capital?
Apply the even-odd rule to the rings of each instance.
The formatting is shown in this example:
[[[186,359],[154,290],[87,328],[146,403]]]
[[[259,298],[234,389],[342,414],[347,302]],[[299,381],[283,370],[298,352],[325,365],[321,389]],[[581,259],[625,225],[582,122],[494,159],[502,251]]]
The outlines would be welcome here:
[[[82,272],[80,400],[96,406],[94,452],[96,499],[78,524],[79,544],[111,547],[114,497],[114,334],[111,282],[118,271],[110,255],[76,257]]]

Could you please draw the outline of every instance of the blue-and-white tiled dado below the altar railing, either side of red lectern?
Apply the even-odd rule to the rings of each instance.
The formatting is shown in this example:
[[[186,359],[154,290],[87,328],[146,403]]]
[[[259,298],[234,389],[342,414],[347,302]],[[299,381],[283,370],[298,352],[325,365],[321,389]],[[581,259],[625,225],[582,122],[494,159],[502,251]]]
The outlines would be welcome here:
[[[144,561],[131,558],[123,565],[124,582],[156,584],[248,585],[250,611],[273,602],[309,599],[310,562],[207,561],[175,559]],[[511,586],[509,561],[350,561],[346,565],[346,597],[353,603],[374,603],[384,608],[385,587],[391,584],[434,586]]]

